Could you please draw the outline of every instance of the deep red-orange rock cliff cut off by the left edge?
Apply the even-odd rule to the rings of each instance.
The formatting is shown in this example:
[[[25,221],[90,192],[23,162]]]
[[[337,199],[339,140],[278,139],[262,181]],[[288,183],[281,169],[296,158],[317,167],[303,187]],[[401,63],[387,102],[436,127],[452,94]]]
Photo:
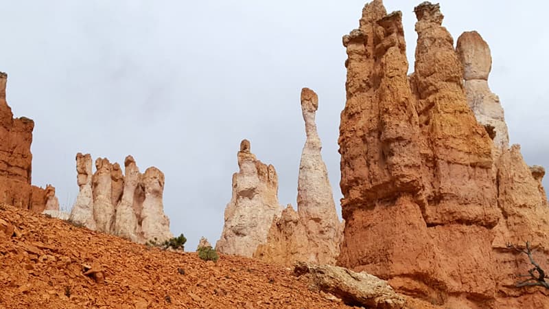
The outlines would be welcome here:
[[[26,117],[13,117],[5,100],[7,82],[8,75],[0,72],[0,203],[36,212],[59,209],[54,187],[31,185],[34,122]]]

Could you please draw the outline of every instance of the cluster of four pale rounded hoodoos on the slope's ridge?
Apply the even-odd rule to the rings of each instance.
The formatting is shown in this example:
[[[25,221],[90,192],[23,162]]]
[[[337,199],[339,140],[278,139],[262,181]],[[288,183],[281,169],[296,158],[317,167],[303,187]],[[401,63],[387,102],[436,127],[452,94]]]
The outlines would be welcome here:
[[[163,210],[164,174],[157,168],[139,172],[133,157],[124,161],[125,176],[118,163],[76,155],[80,193],[70,220],[89,229],[128,238],[134,242],[163,242],[172,238],[170,220]]]

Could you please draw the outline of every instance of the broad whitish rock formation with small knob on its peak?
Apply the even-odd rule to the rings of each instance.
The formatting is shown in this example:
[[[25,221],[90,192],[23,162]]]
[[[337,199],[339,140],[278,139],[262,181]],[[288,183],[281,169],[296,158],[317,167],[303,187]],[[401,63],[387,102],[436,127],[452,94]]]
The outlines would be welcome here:
[[[247,139],[240,143],[237,158],[240,171],[233,174],[233,195],[215,249],[251,257],[257,246],[267,241],[272,221],[281,214],[279,183],[274,166],[257,160]]]

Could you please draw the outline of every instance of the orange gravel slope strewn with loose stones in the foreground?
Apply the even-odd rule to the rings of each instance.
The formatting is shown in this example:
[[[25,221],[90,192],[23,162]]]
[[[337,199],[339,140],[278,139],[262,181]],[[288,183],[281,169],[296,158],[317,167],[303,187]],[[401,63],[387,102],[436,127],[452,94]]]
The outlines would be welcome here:
[[[9,205],[0,205],[0,286],[1,308],[349,308],[289,268],[205,262]]]

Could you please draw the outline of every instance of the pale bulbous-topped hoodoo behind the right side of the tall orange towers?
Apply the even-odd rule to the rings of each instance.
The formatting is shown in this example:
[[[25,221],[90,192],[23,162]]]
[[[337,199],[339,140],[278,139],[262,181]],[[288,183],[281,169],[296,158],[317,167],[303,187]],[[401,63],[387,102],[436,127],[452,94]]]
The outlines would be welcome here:
[[[509,148],[509,133],[498,95],[488,87],[492,66],[490,47],[476,31],[463,32],[456,47],[463,65],[467,102],[477,121],[493,129],[493,142],[499,149]]]

